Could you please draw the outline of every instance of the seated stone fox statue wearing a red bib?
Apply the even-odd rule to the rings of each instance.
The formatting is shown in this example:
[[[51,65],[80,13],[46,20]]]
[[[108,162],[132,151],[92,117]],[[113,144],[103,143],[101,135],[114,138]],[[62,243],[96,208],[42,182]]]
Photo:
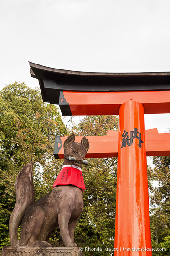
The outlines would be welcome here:
[[[12,246],[52,246],[47,241],[58,226],[64,245],[77,246],[74,243],[74,229],[83,210],[82,191],[85,189],[81,167],[89,143],[85,137],[82,138],[81,143],[74,140],[74,134],[65,140],[64,169],[62,168],[62,173],[58,175],[59,178],[57,177],[52,191],[36,203],[34,203],[32,162],[19,172],[16,179],[16,205],[9,222]],[[75,161],[67,160],[69,156],[74,157]],[[74,183],[76,178],[78,187]],[[21,235],[18,240],[17,229],[22,219]]]

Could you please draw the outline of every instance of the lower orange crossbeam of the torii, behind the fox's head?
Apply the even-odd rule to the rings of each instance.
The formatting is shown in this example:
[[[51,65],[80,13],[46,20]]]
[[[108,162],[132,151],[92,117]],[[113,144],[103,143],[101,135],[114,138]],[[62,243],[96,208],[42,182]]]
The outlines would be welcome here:
[[[170,133],[158,133],[157,129],[145,131],[146,155],[170,155]],[[67,137],[60,137],[62,144]],[[106,136],[86,136],[90,148],[86,158],[117,157],[118,156],[118,131],[108,131]],[[82,137],[76,137],[80,142]],[[64,158],[63,146],[58,153],[59,158]]]

